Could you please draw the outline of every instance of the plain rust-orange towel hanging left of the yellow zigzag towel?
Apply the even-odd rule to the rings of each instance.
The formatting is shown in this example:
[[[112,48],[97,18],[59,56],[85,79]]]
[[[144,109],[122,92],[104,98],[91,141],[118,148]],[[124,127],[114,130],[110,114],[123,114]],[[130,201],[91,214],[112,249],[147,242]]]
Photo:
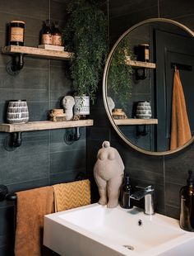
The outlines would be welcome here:
[[[44,215],[53,212],[53,187],[17,192],[15,256],[41,256]]]

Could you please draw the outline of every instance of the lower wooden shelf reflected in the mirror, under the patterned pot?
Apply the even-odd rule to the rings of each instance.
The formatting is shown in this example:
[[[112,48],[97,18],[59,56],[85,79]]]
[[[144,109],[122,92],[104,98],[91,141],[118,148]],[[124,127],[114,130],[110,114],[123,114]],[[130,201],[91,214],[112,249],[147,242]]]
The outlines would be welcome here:
[[[157,125],[158,119],[114,119],[117,126]]]

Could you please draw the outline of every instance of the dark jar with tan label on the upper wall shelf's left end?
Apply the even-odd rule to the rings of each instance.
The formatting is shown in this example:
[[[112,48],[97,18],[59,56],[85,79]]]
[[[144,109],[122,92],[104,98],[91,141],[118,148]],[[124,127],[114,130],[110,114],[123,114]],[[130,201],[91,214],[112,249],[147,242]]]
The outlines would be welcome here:
[[[10,45],[24,45],[25,22],[10,22]]]

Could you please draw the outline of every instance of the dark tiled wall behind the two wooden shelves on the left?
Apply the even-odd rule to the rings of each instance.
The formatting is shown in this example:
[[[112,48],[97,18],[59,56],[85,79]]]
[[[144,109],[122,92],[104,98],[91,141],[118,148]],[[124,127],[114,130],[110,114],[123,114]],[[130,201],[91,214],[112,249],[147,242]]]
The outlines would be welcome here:
[[[39,44],[39,31],[43,21],[59,21],[64,25],[67,17],[66,2],[59,0],[0,1],[0,46],[5,45],[6,24],[12,20],[25,21],[25,45]],[[30,121],[48,119],[48,110],[58,108],[60,101],[71,91],[67,76],[67,63],[25,57],[25,67],[16,76],[6,71],[11,57],[0,55],[0,122],[5,121],[6,101],[26,99]],[[0,133],[0,184],[10,192],[42,187],[53,183],[69,182],[77,173],[85,173],[85,128],[81,140],[73,145],[64,143],[65,130],[24,132],[22,145],[15,151],[3,147],[7,134]],[[14,205],[0,202],[0,255],[12,255]]]

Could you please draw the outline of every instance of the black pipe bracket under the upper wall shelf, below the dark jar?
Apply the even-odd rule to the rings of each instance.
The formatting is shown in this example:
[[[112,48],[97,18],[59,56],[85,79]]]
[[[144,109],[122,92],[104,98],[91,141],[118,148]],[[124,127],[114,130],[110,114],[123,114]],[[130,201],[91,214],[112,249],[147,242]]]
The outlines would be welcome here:
[[[16,75],[20,73],[21,69],[24,67],[24,54],[12,55],[12,60],[7,63],[6,70],[7,73],[11,75]]]

